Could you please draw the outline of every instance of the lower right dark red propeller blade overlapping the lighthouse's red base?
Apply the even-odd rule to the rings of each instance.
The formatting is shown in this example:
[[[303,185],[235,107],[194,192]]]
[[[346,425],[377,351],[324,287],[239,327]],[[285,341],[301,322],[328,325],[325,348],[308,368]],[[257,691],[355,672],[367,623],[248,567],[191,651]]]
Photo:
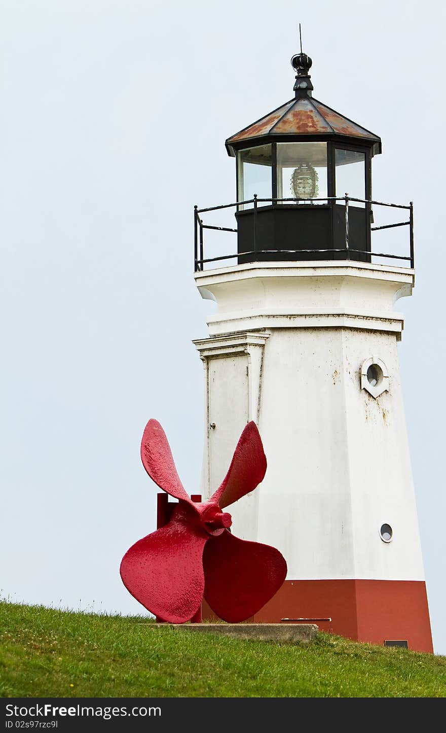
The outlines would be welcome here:
[[[207,603],[233,624],[256,614],[286,578],[286,561],[278,550],[234,537],[227,529],[207,542],[203,567]]]

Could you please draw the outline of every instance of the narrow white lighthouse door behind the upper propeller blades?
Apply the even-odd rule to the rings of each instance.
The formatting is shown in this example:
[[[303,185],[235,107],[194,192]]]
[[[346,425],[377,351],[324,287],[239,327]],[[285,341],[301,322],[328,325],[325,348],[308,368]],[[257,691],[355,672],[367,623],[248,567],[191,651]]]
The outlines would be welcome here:
[[[209,491],[226,476],[234,448],[248,422],[248,356],[209,358]]]

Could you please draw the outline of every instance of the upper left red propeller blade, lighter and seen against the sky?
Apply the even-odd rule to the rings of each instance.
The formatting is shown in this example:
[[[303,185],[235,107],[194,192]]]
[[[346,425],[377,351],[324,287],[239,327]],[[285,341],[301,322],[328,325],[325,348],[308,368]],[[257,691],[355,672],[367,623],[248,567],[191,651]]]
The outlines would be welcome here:
[[[141,441],[141,460],[150,478],[160,489],[176,499],[192,503],[176,473],[166,433],[157,420],[149,420],[146,424]]]

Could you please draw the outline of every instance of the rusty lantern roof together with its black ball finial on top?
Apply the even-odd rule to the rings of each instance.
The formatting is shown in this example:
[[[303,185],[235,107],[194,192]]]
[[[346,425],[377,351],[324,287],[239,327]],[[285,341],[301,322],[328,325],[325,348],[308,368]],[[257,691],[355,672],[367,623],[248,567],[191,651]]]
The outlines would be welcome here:
[[[371,147],[372,155],[381,152],[379,136],[319,100],[313,99],[311,95],[313,84],[308,74],[311,64],[311,59],[306,54],[293,56],[291,65],[297,71],[294,84],[296,96],[228,138],[226,140],[228,155],[235,155],[236,150],[254,141],[261,144],[270,139],[290,141],[340,137],[344,141],[349,138],[356,144]]]

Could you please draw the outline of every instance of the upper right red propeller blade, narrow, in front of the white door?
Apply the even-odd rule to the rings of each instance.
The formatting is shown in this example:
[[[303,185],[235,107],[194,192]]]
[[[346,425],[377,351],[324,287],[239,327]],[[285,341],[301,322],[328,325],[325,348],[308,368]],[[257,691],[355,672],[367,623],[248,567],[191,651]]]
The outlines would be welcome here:
[[[240,435],[228,473],[210,501],[217,502],[222,509],[228,507],[253,491],[263,481],[266,471],[267,459],[259,430],[250,421]]]

